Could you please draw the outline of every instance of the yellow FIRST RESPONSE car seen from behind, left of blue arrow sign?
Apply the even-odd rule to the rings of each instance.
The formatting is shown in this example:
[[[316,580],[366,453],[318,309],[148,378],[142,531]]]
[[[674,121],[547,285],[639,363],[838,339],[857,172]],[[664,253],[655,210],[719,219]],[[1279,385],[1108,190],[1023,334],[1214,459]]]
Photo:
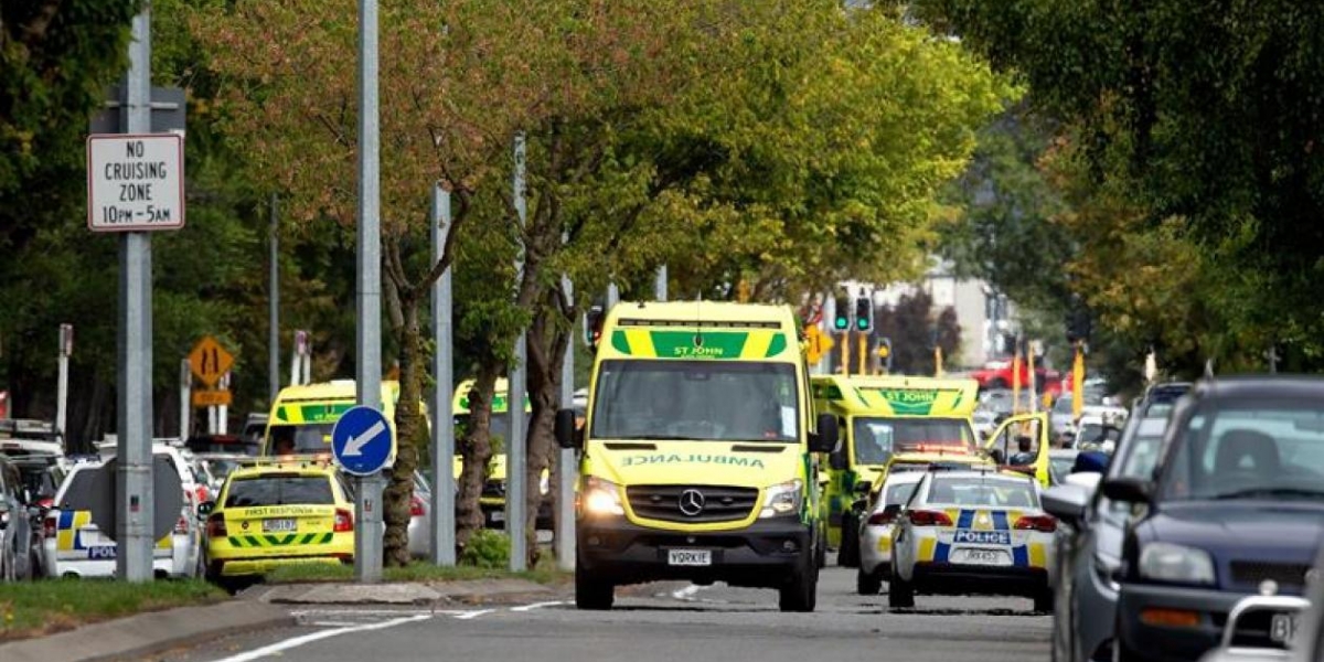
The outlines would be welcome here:
[[[207,516],[207,577],[236,589],[287,564],[354,563],[354,502],[334,465],[236,469]]]

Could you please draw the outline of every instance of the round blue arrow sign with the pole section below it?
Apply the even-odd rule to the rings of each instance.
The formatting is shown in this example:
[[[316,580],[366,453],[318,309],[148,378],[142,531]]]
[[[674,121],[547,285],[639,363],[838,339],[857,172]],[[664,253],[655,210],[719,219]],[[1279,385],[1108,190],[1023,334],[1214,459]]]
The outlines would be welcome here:
[[[380,471],[395,457],[395,434],[375,406],[354,406],[331,428],[331,454],[340,469],[357,477],[354,508],[354,568],[360,583],[381,580]]]

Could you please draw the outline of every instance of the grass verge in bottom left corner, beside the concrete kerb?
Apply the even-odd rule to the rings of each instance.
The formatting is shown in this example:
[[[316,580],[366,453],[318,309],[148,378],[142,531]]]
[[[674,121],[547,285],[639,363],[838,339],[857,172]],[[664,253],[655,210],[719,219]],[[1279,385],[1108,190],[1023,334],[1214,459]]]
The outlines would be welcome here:
[[[0,583],[0,642],[41,637],[140,612],[225,600],[203,580],[42,580]]]

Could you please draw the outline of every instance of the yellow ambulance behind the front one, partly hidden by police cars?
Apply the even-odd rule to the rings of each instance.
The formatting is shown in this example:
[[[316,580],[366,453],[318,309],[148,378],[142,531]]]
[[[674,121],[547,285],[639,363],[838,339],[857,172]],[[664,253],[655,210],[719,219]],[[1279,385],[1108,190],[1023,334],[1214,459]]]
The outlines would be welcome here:
[[[812,384],[816,410],[835,416],[843,430],[824,486],[828,539],[842,565],[858,559],[851,504],[891,466],[988,463],[970,422],[978,404],[972,379],[818,375]]]

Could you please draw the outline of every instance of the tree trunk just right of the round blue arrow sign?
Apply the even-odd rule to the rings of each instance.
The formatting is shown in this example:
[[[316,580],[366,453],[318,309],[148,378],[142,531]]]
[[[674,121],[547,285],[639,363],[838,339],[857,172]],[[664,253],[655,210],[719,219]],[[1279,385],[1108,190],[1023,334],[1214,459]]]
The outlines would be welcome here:
[[[402,293],[401,293],[402,294]],[[414,471],[418,469],[418,449],[424,445],[422,425],[422,336],[418,327],[418,298],[400,297],[402,324],[397,328],[400,343],[400,401],[396,402],[396,463],[383,494],[383,515],[387,522],[383,561],[387,565],[409,563],[409,518],[414,490]],[[449,417],[438,417],[437,425],[446,425]]]

